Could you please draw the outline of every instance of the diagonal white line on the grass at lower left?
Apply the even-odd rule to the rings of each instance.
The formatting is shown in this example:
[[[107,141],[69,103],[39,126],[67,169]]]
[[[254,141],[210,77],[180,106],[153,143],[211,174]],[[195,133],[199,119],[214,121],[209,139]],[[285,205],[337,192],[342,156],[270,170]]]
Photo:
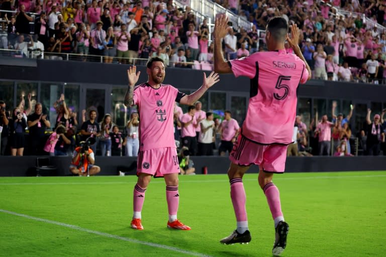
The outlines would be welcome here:
[[[105,236],[105,237],[109,237],[109,238],[119,239],[119,240],[128,241],[128,242],[132,242],[132,243],[144,244],[144,245],[148,245],[148,246],[152,246],[152,247],[156,247],[156,248],[163,248],[163,249],[167,249],[167,250],[171,250],[171,251],[176,251],[176,252],[184,253],[184,254],[187,254],[187,255],[202,256],[202,257],[212,257],[210,255],[206,255],[206,254],[199,253],[199,252],[187,251],[187,250],[180,249],[180,248],[177,248],[177,247],[167,246],[167,245],[158,244],[158,243],[140,241],[140,240],[136,240],[136,239],[132,239],[132,238],[128,238],[128,237],[123,237],[123,236],[119,236],[119,235],[113,235],[113,234],[104,233],[104,232],[100,232],[100,231],[95,231],[95,230],[91,230],[91,229],[87,229],[87,228],[83,228],[83,227],[78,227],[78,226],[75,226],[75,225],[66,224],[66,223],[62,223],[62,222],[58,222],[58,221],[53,221],[53,220],[49,220],[49,219],[42,219],[42,218],[38,218],[38,217],[33,217],[33,216],[29,216],[29,215],[26,215],[26,214],[21,214],[21,213],[17,213],[17,212],[13,212],[13,211],[8,211],[8,210],[0,209],[0,212],[4,212],[4,213],[11,214],[11,215],[15,215],[15,216],[19,216],[19,217],[24,217],[24,218],[32,219],[32,220],[36,220],[36,221],[41,221],[41,222],[44,222],[44,223],[49,223],[49,224],[54,224],[54,225],[58,225],[58,226],[68,227],[68,228],[72,228],[72,229],[75,229],[75,230],[79,230],[79,231],[83,231],[83,232],[87,232],[87,233],[91,233],[91,234],[97,234],[97,235],[101,235],[101,236]]]

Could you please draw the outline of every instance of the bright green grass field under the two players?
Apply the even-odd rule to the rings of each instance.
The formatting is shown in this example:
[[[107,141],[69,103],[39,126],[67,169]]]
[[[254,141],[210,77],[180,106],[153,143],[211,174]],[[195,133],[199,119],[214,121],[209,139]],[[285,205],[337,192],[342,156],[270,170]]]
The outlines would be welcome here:
[[[165,184],[153,179],[130,228],[135,176],[0,178],[1,256],[271,256],[273,221],[257,174],[244,177],[250,244],[222,245],[236,221],[226,175],[180,176],[166,228]],[[386,172],[275,175],[290,229],[282,256],[384,256]]]

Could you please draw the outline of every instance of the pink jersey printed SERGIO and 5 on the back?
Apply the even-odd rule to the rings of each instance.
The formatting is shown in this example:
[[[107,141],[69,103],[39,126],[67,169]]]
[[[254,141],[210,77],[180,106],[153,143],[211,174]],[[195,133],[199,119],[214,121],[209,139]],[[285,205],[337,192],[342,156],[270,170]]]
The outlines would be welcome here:
[[[233,74],[251,79],[242,135],[260,144],[291,144],[297,89],[308,79],[305,63],[284,49],[230,61]]]

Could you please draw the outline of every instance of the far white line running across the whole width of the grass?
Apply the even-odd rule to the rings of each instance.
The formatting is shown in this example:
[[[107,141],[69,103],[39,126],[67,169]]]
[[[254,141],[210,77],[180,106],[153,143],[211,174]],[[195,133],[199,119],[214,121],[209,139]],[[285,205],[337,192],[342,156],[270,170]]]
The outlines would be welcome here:
[[[216,174],[217,175],[217,174]],[[226,174],[224,174],[226,175]],[[256,174],[257,176],[257,174]],[[304,180],[304,179],[343,179],[343,178],[378,178],[386,177],[386,175],[349,175],[349,176],[318,176],[318,177],[298,177],[298,178],[280,178],[275,177],[275,180]],[[243,181],[257,181],[256,179],[243,179]],[[191,180],[191,181],[182,181],[181,183],[203,183],[203,182],[229,182],[229,180]],[[0,185],[9,186],[9,185],[99,185],[99,184],[132,184],[133,181],[128,182],[59,182],[59,183],[0,183]],[[151,184],[164,184],[162,181],[152,181]]]

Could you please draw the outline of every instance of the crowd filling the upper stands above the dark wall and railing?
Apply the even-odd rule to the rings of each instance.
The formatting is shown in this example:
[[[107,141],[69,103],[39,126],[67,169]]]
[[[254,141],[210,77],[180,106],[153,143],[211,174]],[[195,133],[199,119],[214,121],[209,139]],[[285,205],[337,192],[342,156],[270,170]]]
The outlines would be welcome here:
[[[367,17],[384,25],[384,1],[253,1],[216,0],[253,23],[251,31],[233,28],[223,42],[227,59],[264,51],[264,30],[269,18],[281,16],[302,28],[300,44],[313,70],[313,78],[380,84],[386,78],[386,31],[378,34],[360,15],[338,15],[335,8]],[[8,35],[3,48],[20,50],[22,56],[62,59],[60,53],[77,53],[77,60],[103,56],[106,63],[132,63],[132,58],[162,58],[169,66],[192,68],[194,62],[212,63],[212,27],[198,24],[189,6],[176,8],[172,1],[3,0],[0,17]],[[28,12],[37,14],[34,18]],[[35,35],[29,35],[35,19]],[[233,24],[229,24],[233,27]],[[30,52],[29,52],[30,49]],[[287,46],[287,52],[291,48]],[[56,53],[56,54],[55,54]],[[146,62],[146,61],[143,61]],[[209,66],[209,68],[211,68]]]

